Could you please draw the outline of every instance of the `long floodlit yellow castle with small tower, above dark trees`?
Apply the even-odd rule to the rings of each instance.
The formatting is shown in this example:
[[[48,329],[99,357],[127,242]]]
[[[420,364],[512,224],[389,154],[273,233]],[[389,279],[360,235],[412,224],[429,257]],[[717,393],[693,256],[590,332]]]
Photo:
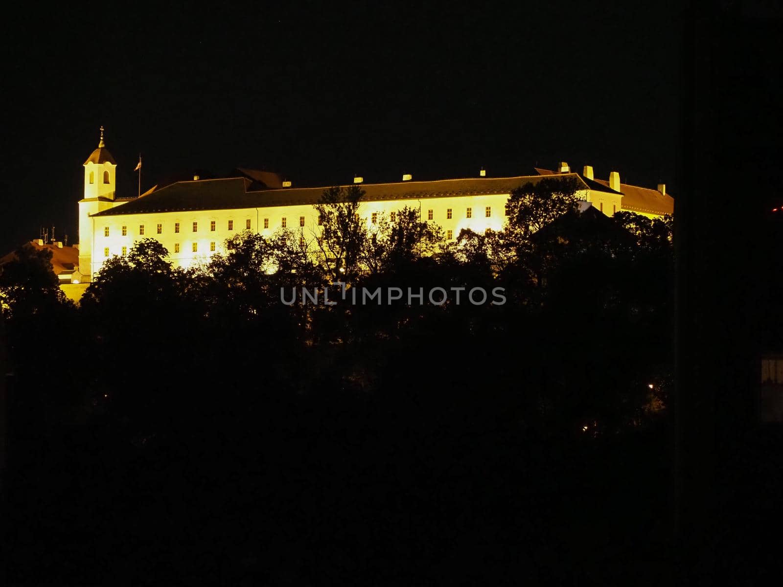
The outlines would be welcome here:
[[[301,229],[305,238],[316,237],[318,203],[325,188],[294,188],[290,182],[264,171],[243,170],[224,179],[176,182],[134,198],[115,197],[117,164],[103,142],[88,157],[85,196],[79,201],[79,272],[82,281],[92,280],[103,262],[123,255],[143,238],[157,239],[171,255],[174,265],[188,266],[222,251],[230,236],[251,230],[271,236],[278,229]],[[640,188],[620,183],[612,171],[608,181],[595,179],[593,168],[572,172],[561,163],[556,171],[536,169],[536,175],[490,178],[485,172],[475,178],[415,182],[403,175],[401,182],[364,184],[360,213],[370,224],[381,214],[391,217],[403,207],[420,211],[420,218],[437,222],[447,239],[461,229],[484,232],[503,229],[509,193],[527,182],[555,175],[579,182],[579,199],[611,216],[627,210],[649,217],[672,214],[673,199],[666,186]]]

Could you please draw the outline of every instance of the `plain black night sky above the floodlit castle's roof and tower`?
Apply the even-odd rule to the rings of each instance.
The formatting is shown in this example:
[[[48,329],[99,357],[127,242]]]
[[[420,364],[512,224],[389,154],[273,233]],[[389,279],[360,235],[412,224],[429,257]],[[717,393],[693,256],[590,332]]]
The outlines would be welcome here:
[[[119,196],[194,171],[294,185],[524,175],[559,160],[677,196],[679,2],[75,10],[10,20],[0,245],[76,240],[99,127]]]

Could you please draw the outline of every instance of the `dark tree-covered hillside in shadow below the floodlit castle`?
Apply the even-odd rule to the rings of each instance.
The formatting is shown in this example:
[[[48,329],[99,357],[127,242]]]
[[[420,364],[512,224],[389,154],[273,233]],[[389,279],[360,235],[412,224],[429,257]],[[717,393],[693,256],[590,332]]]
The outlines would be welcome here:
[[[42,301],[57,318],[28,317],[34,333],[9,297],[13,578],[658,584],[632,569],[665,554],[661,225],[564,211],[536,239],[448,247],[415,211],[367,229],[331,197],[320,263],[296,231],[244,233],[188,271],[145,240],[78,310]],[[479,286],[507,302],[466,303]],[[337,303],[282,303],[301,287]],[[424,304],[350,303],[391,287]],[[429,303],[436,287],[461,303]],[[34,398],[66,379],[79,393],[42,419]]]

